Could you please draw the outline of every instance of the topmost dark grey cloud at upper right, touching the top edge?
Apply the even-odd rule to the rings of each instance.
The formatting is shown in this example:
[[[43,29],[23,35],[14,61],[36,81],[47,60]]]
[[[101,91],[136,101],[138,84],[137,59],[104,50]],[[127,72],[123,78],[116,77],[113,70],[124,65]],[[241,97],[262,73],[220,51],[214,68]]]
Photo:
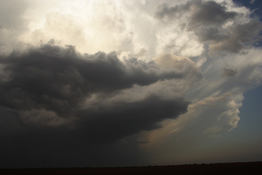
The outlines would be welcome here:
[[[155,17],[158,19],[167,17],[169,20],[176,20],[188,12],[190,13],[187,24],[189,30],[202,27],[203,25],[217,27],[227,20],[234,18],[237,14],[236,12],[227,12],[226,7],[214,1],[188,1],[185,4],[176,6],[161,4],[157,8]]]

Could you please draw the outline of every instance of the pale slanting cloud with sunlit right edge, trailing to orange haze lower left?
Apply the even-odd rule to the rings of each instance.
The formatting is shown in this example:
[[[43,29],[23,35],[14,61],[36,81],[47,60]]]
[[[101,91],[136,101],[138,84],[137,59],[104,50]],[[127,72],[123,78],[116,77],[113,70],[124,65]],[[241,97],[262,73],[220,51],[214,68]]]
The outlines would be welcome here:
[[[193,150],[195,153],[195,149],[199,146],[205,151],[213,139],[236,128],[240,120],[238,108],[242,106],[242,100],[242,95],[227,92],[190,104],[188,112],[178,119],[162,122],[164,127],[160,131],[143,133],[149,143],[141,145],[141,153],[145,155],[150,153],[151,156],[157,157],[150,160],[149,156],[145,156],[149,162],[168,163],[174,160],[173,156],[178,157],[175,160],[180,164],[184,161],[203,161],[199,160],[199,155],[189,151]]]

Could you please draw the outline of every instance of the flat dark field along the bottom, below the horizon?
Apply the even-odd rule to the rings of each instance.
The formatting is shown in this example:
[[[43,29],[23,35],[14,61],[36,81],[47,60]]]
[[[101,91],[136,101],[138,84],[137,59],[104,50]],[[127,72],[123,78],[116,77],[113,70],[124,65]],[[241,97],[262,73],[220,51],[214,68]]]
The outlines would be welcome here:
[[[149,167],[0,169],[0,174],[262,174],[262,162]]]

